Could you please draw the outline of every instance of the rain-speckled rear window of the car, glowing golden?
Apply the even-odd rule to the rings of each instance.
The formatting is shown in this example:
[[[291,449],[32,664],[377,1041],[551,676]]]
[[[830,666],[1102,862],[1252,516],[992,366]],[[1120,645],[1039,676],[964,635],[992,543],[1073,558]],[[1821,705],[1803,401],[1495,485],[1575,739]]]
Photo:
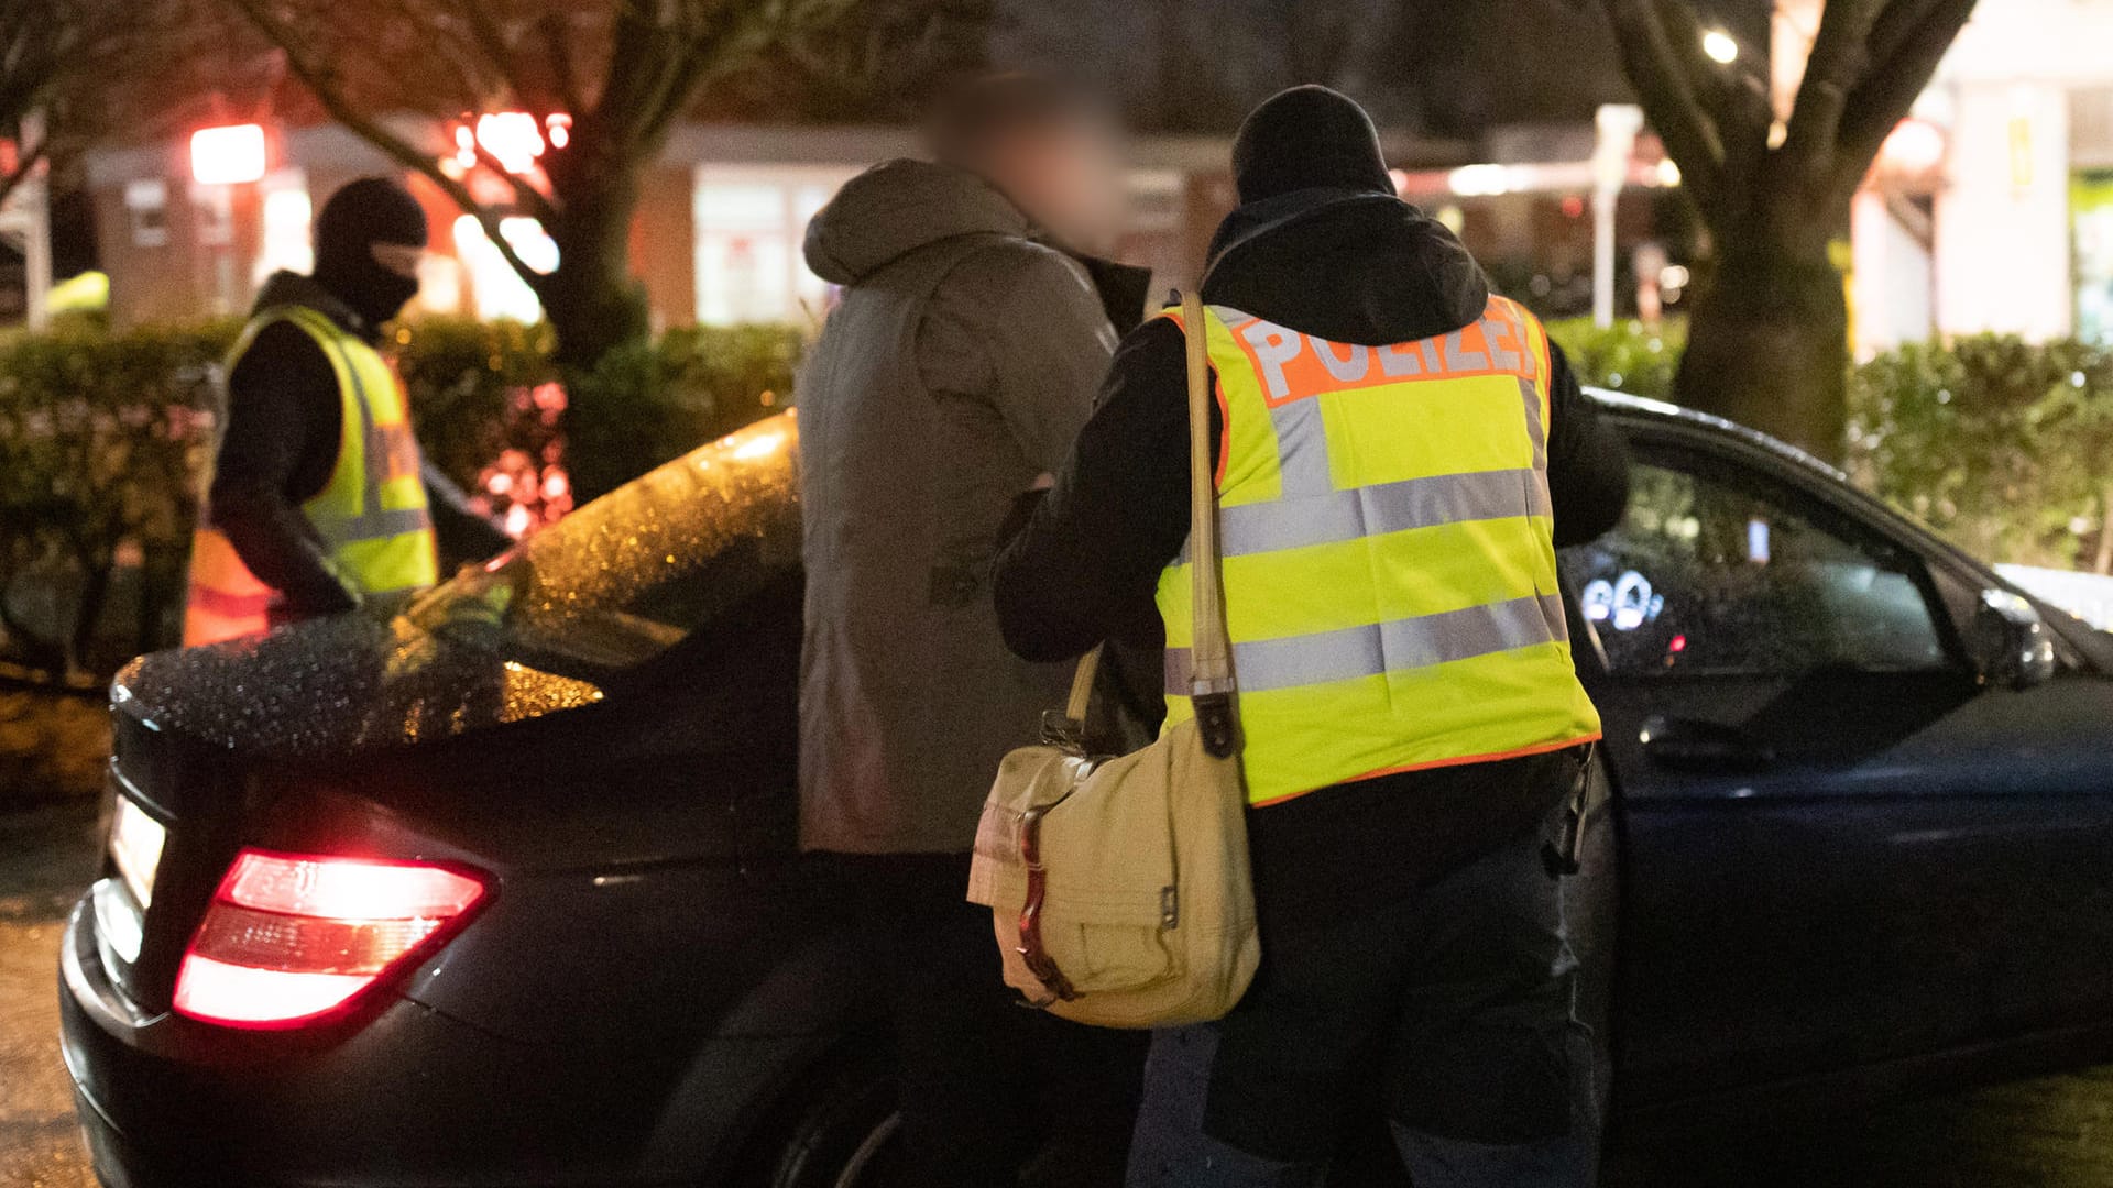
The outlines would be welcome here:
[[[406,615],[425,630],[619,670],[799,564],[790,414],[723,438],[587,503]]]

